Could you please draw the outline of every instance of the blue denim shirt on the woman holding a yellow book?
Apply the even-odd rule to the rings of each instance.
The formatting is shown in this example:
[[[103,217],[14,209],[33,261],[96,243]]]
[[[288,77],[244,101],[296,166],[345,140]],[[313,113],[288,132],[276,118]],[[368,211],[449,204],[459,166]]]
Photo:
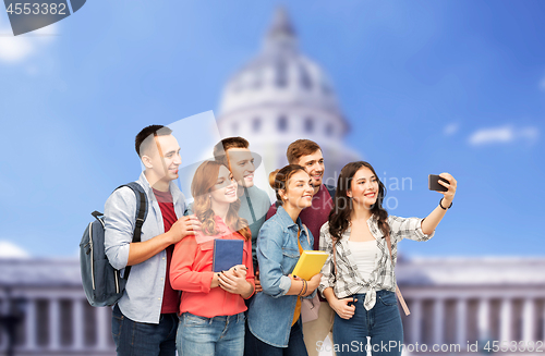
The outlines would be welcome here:
[[[249,307],[250,331],[257,339],[276,347],[288,347],[291,323],[295,311],[296,295],[286,295],[291,286],[288,277],[299,260],[299,241],[303,249],[312,250],[314,237],[279,207],[277,213],[267,220],[257,236],[257,260],[263,292],[257,293]],[[308,297],[314,297],[316,291]]]

